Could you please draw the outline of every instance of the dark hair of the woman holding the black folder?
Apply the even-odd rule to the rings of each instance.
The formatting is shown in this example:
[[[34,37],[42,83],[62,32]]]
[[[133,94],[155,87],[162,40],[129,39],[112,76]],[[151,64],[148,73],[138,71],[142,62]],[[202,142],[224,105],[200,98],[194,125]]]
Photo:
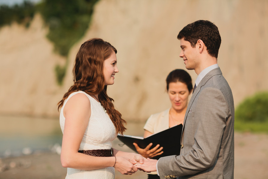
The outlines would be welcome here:
[[[191,92],[193,89],[192,78],[183,69],[176,69],[169,73],[166,77],[166,90],[169,90],[169,83],[171,82],[182,82],[187,85],[188,91]]]

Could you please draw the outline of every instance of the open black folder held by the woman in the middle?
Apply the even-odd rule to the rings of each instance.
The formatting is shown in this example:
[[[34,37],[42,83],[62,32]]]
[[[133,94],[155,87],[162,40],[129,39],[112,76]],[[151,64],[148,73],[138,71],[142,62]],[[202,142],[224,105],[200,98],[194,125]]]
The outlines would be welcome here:
[[[163,154],[153,157],[152,159],[159,159],[161,157],[169,155],[180,155],[180,137],[183,125],[177,125],[161,132],[149,135],[147,138],[137,137],[132,135],[117,135],[117,138],[126,144],[130,149],[136,151],[133,143],[137,143],[138,146],[144,149],[149,143],[153,143],[150,149],[155,147],[157,144],[163,147]]]

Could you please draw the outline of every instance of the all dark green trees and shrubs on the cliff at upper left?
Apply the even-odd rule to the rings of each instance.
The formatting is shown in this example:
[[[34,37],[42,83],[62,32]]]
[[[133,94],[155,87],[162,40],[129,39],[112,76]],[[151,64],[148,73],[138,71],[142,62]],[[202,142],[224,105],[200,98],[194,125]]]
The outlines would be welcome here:
[[[62,56],[69,53],[90,24],[94,4],[98,0],[43,0],[37,5],[24,1],[12,7],[0,6],[0,27],[13,21],[24,23],[29,27],[34,14],[39,12],[49,27],[47,38],[54,43],[54,50]],[[63,83],[66,65],[56,65],[55,72],[58,84]]]

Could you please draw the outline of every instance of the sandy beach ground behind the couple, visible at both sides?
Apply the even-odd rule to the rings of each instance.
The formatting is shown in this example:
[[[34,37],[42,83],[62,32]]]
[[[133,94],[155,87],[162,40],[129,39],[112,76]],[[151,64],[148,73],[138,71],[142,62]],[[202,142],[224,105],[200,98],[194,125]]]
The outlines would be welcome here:
[[[119,140],[113,141],[116,149],[131,152],[126,146],[120,147]],[[0,159],[0,179],[64,179],[66,168],[60,164],[60,155],[39,153],[14,158]],[[236,179],[268,178],[268,135],[235,133],[235,173]],[[121,175],[116,179],[146,179],[141,171],[133,175]]]

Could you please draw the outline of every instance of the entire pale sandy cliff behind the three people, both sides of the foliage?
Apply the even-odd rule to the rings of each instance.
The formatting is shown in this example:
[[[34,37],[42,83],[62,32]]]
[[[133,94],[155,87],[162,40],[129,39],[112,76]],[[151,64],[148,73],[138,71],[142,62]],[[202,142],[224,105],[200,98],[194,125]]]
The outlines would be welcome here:
[[[89,38],[109,41],[118,50],[119,73],[108,93],[127,120],[146,120],[170,106],[166,75],[185,69],[179,57],[179,31],[207,19],[222,36],[218,63],[233,91],[235,105],[268,90],[268,1],[100,0],[91,26],[68,55],[62,87],[54,67],[65,62],[53,53],[39,15],[31,26],[0,29],[0,113],[57,116],[56,104],[72,84],[71,68],[80,45]],[[189,71],[195,81],[197,75]]]

